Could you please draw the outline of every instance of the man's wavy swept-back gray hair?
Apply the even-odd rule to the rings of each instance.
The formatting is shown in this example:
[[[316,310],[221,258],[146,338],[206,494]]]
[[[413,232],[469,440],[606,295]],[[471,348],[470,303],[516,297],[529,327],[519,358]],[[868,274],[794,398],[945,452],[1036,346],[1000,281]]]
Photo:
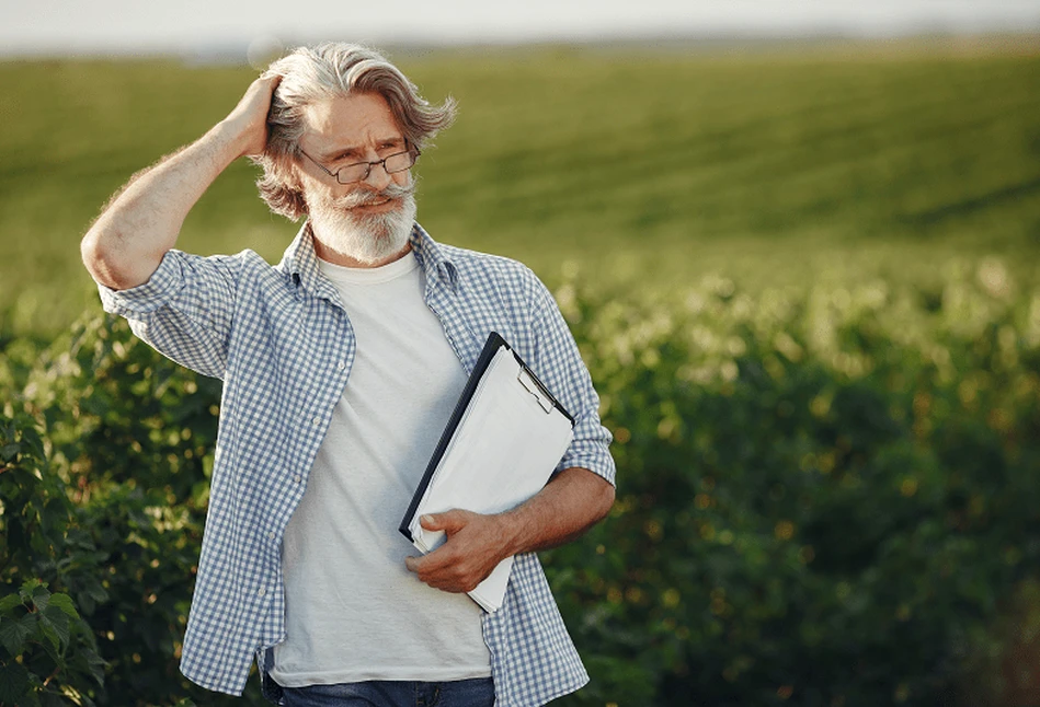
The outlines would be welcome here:
[[[252,158],[264,170],[256,181],[272,211],[294,221],[307,215],[302,187],[292,165],[302,159],[304,109],[324,98],[359,93],[381,95],[408,141],[422,149],[455,119],[455,101],[432,106],[414,83],[377,51],[356,44],[299,47],[274,61],[264,77],[282,77],[267,115],[267,147]]]

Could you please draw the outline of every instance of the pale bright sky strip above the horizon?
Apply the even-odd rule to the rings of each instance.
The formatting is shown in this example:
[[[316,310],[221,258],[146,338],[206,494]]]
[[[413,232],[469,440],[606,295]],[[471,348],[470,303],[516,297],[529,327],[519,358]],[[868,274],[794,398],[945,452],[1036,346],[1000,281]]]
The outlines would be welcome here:
[[[752,34],[1037,32],[1040,0],[0,0],[0,55]]]

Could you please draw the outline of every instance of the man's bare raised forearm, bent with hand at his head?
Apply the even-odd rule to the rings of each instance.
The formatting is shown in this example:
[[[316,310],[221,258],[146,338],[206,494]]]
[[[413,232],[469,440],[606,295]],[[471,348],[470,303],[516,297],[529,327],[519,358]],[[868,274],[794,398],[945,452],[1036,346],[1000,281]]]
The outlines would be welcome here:
[[[237,158],[263,152],[277,83],[278,77],[253,81],[228,117],[115,194],[80,244],[83,264],[98,282],[126,290],[148,281],[217,176]]]

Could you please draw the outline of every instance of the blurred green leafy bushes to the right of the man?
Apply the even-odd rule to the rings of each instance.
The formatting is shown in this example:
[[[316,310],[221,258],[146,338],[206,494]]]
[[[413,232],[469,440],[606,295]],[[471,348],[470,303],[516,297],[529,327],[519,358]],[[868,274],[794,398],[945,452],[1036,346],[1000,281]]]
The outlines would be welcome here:
[[[619,467],[547,557],[596,673],[574,704],[1007,704],[1004,647],[968,665],[1037,577],[1040,297],[993,262],[925,293],[560,294]]]

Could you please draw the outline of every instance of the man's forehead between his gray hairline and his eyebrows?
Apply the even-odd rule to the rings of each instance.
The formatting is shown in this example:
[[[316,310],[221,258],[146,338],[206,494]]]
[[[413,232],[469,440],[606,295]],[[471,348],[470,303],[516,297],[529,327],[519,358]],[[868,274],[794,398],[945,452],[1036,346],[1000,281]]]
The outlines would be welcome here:
[[[322,98],[302,113],[305,149],[348,150],[403,139],[390,105],[378,93]]]

